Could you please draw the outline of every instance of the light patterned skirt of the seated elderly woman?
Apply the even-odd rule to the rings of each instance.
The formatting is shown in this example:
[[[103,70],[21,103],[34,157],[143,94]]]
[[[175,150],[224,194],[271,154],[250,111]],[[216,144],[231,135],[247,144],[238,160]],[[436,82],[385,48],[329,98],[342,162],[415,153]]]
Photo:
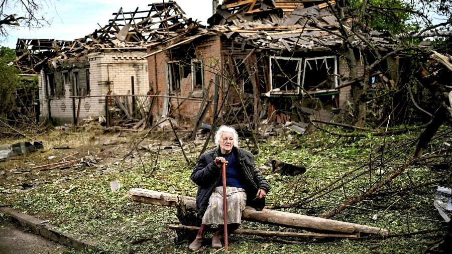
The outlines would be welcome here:
[[[242,211],[247,204],[247,193],[242,188],[226,187],[228,224],[239,223]],[[202,217],[202,224],[224,224],[223,218],[223,187],[216,187],[209,198],[209,205]]]

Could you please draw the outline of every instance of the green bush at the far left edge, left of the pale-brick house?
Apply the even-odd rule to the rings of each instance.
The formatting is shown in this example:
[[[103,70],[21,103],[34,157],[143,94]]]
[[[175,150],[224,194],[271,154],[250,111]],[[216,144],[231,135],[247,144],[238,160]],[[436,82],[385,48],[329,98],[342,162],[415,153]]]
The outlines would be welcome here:
[[[19,79],[17,69],[10,63],[16,59],[13,49],[0,47],[0,115],[11,112]]]

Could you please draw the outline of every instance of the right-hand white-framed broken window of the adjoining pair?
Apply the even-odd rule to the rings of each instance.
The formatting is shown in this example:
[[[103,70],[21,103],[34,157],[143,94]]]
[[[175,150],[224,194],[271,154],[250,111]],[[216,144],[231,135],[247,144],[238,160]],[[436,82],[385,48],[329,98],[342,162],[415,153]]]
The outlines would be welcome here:
[[[337,62],[335,56],[304,59],[303,91],[334,89],[337,86]]]

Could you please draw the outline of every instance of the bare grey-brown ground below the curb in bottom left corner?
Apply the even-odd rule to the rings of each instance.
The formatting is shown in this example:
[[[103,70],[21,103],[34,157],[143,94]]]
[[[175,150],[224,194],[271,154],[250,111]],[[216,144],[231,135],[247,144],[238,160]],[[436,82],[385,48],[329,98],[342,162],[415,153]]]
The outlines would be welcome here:
[[[62,253],[66,246],[27,232],[22,227],[6,223],[0,227],[0,254]]]

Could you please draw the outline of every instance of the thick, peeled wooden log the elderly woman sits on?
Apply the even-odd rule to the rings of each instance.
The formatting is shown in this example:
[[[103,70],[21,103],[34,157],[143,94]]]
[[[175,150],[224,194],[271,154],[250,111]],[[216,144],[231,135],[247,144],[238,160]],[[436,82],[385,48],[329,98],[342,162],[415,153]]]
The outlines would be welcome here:
[[[135,188],[129,191],[132,198],[141,203],[176,207],[179,199],[184,199],[187,208],[196,209],[196,199],[189,196],[181,196],[159,191]],[[257,221],[260,223],[290,226],[295,228],[311,228],[315,230],[326,230],[343,233],[370,233],[378,235],[388,235],[389,231],[384,228],[365,226],[356,223],[324,219],[320,217],[307,216],[297,213],[282,212],[270,209],[256,211],[245,209],[242,212],[242,219]]]

